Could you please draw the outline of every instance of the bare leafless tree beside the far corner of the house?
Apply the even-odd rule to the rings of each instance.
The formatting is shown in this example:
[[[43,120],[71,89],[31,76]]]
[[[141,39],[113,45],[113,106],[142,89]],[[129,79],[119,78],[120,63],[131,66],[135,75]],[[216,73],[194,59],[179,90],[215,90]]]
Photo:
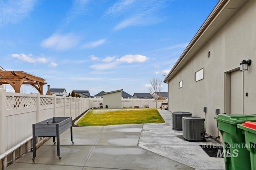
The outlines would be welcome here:
[[[148,86],[148,92],[153,95],[155,99],[162,95],[162,90],[164,86],[162,85],[162,80],[158,77],[153,77],[150,80],[150,85]]]

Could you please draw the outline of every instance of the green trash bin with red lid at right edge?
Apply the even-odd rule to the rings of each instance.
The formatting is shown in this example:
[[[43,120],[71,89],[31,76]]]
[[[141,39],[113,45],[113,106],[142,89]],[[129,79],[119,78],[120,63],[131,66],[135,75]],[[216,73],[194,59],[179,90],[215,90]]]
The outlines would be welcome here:
[[[246,149],[250,152],[251,168],[256,170],[256,122],[245,122],[237,125],[244,130]]]

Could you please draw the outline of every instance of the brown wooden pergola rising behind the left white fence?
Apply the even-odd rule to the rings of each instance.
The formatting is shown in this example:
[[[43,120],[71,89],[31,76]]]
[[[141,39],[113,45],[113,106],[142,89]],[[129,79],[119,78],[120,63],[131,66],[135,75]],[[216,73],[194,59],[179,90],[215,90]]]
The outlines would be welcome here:
[[[23,71],[2,71],[0,70],[0,85],[9,84],[15,90],[15,93],[20,93],[21,85],[32,85],[38,92],[43,95],[43,86],[46,79],[25,73]]]

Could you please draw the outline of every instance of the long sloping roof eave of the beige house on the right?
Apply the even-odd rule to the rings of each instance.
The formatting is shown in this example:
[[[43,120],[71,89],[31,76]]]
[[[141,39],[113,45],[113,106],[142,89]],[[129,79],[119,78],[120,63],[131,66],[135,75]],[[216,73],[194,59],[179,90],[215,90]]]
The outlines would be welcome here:
[[[171,71],[164,79],[168,83],[172,77],[186,65],[186,63],[224,26],[248,0],[232,1],[220,0],[212,10],[204,24],[200,27],[194,38],[180,55]],[[214,25],[214,26],[212,26]]]

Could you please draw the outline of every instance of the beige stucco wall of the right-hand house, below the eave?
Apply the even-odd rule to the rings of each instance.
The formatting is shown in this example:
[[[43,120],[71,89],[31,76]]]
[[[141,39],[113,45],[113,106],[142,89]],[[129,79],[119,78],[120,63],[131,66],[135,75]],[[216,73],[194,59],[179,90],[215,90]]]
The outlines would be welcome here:
[[[231,3],[236,3],[236,1]],[[232,4],[230,4],[232,7]],[[225,11],[222,11],[225,17]],[[229,76],[239,70],[242,60],[251,59],[248,71],[240,72],[243,82],[241,114],[256,114],[256,1],[247,2],[222,26],[171,79],[166,78],[169,91],[170,111],[189,111],[193,116],[205,118],[206,133],[220,136],[216,125],[214,109],[229,113]],[[221,22],[222,19],[220,19]],[[215,27],[217,25],[210,25]],[[207,37],[207,35],[205,35]],[[208,51],[210,57],[208,58]],[[194,74],[204,68],[204,79],[195,82]],[[170,73],[168,74],[170,75]],[[179,88],[179,82],[183,86]],[[248,93],[248,96],[245,95]]]

